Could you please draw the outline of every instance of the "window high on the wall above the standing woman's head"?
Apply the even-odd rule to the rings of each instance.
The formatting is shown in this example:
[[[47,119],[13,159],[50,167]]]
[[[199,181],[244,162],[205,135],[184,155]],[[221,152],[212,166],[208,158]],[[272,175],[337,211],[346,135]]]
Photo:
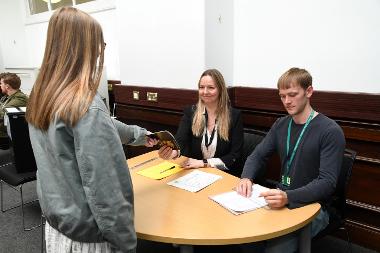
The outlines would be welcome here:
[[[75,6],[95,0],[28,0],[30,15],[58,9],[62,6]]]

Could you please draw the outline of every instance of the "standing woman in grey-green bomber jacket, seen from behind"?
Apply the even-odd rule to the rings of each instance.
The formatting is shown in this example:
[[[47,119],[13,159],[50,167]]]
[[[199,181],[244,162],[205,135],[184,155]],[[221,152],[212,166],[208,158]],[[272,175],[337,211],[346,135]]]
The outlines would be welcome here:
[[[97,94],[103,59],[103,33],[95,19],[71,7],[52,15],[26,113],[47,252],[136,250],[122,143],[155,141],[145,129],[110,117]]]

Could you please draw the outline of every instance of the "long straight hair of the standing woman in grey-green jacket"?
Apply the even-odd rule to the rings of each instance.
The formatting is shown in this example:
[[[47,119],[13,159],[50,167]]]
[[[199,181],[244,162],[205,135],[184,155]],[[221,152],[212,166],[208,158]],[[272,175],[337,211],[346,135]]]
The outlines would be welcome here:
[[[97,92],[103,61],[99,23],[72,7],[55,11],[49,21],[41,69],[29,97],[28,122],[47,130],[57,117],[75,126]]]

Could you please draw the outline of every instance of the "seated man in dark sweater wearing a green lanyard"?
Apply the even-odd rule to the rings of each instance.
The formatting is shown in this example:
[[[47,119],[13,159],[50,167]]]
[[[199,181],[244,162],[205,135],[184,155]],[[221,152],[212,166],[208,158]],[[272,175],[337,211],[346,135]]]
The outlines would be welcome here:
[[[327,203],[336,186],[345,138],[338,124],[310,105],[312,77],[304,69],[291,68],[277,84],[288,116],[279,118],[245,162],[237,191],[250,196],[255,177],[277,152],[281,182],[277,189],[262,193],[271,208],[296,208],[319,202],[321,212],[312,222],[315,236],[329,223]],[[297,231],[265,242],[265,252],[295,252]]]

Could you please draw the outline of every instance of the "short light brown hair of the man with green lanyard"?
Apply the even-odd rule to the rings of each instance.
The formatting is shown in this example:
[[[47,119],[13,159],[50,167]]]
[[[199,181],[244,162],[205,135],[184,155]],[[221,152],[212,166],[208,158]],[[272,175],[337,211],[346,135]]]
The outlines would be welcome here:
[[[299,85],[306,90],[313,85],[313,77],[305,69],[291,68],[278,79],[278,89],[289,89],[293,85]]]

